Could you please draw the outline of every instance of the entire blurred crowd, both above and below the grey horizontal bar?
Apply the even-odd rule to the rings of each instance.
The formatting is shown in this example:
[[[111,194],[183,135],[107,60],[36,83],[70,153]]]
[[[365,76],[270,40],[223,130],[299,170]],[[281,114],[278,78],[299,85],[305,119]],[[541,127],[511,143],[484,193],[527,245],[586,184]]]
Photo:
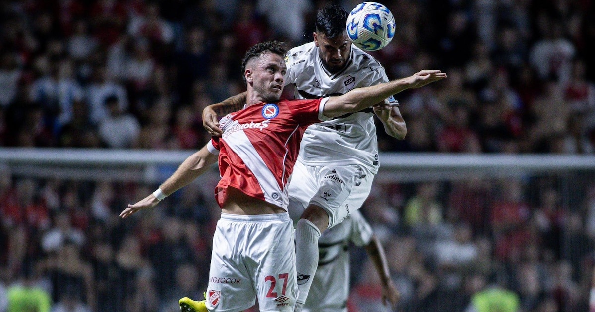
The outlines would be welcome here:
[[[202,108],[245,90],[246,49],[311,41],[315,12],[330,2],[2,1],[0,148],[201,147]],[[396,35],[371,54],[389,78],[449,75],[397,96],[408,135],[396,141],[379,127],[382,151],[595,151],[593,1],[381,2]],[[155,187],[0,168],[0,312],[177,311],[180,297],[201,298],[220,210],[191,185],[159,209],[118,218]],[[497,301],[517,300],[518,311],[587,310],[593,172],[377,183],[374,192],[362,211],[386,243],[402,293],[395,311],[464,311],[495,285]],[[358,269],[371,272],[362,255],[353,252]],[[374,278],[353,277],[352,311],[386,311]],[[11,310],[8,298],[28,299]]]

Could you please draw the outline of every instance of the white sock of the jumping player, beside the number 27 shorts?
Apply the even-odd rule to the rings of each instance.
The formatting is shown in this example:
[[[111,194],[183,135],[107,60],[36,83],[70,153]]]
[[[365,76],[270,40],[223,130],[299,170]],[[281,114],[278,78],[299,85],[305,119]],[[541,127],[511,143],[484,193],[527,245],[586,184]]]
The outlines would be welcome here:
[[[318,238],[320,230],[314,223],[300,219],[296,227],[296,270],[297,289],[299,289],[294,312],[302,311],[306,303],[312,280],[318,267]]]

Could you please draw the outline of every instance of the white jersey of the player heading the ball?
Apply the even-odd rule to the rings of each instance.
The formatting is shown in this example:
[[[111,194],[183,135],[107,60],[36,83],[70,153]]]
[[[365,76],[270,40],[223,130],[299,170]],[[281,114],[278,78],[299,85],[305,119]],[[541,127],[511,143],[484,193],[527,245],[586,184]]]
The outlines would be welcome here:
[[[352,45],[345,68],[330,74],[322,66],[314,42],[297,46],[287,52],[285,84],[292,84],[297,99],[345,94],[358,87],[389,81],[384,68],[372,56]],[[391,96],[391,103],[397,101]],[[299,160],[306,165],[361,164],[378,172],[378,141],[374,111],[347,114],[342,118],[311,125],[300,147]]]

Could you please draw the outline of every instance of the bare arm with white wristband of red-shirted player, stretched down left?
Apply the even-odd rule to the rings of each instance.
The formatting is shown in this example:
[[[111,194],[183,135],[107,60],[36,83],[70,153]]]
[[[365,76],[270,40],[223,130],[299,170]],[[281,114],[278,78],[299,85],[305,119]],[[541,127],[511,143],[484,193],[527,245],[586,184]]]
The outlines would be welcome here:
[[[203,147],[198,152],[186,158],[176,172],[159,186],[159,189],[161,189],[161,192],[165,196],[174,193],[205,173],[209,166],[217,162],[217,157],[217,155],[209,152],[208,147]],[[133,215],[142,209],[155,207],[159,201],[160,200],[156,198],[154,194],[149,194],[149,196],[134,204],[128,204],[128,207],[120,213],[120,217],[128,218],[130,215]]]

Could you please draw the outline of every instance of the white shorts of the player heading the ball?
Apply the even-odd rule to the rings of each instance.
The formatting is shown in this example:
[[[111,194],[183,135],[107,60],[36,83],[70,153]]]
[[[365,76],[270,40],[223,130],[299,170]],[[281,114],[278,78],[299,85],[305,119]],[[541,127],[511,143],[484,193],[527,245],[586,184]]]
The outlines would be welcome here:
[[[362,165],[306,166],[297,160],[287,187],[287,211],[296,225],[308,204],[316,204],[326,210],[332,228],[364,204],[373,180]]]

